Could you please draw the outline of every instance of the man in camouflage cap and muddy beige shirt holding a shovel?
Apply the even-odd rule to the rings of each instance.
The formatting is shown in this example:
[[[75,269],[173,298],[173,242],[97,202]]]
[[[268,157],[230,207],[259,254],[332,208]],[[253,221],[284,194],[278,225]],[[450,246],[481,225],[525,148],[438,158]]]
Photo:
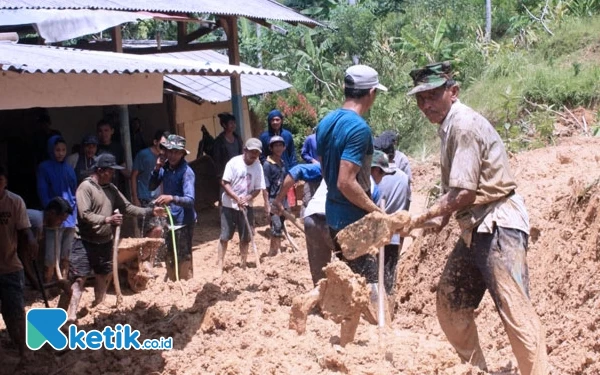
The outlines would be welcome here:
[[[529,218],[502,139],[458,100],[449,62],[411,72],[419,109],[438,124],[444,195],[414,227],[443,227],[456,212],[462,230],[437,287],[437,316],[461,360],[486,370],[475,309],[489,291],[523,375],[548,373],[545,334],[529,299]],[[432,219],[441,219],[438,223]]]

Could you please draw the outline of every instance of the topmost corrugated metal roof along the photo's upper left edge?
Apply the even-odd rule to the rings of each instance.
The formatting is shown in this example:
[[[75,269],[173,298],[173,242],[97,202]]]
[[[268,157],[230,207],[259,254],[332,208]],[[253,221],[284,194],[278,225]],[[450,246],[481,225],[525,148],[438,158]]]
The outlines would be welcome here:
[[[275,0],[0,0],[0,9],[17,8],[202,13],[321,25]]]

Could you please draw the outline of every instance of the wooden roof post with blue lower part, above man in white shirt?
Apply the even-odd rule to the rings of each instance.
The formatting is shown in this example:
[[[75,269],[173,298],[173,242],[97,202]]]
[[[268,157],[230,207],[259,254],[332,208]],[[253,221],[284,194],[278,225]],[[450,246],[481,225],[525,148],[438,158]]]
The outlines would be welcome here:
[[[240,65],[240,43],[237,17],[223,17],[221,20],[223,28],[225,29],[225,34],[227,35],[227,55],[229,56],[229,64]],[[250,137],[250,134],[245,134],[244,131],[242,81],[239,74],[231,75],[231,105],[236,120],[237,133],[242,140],[245,140]]]

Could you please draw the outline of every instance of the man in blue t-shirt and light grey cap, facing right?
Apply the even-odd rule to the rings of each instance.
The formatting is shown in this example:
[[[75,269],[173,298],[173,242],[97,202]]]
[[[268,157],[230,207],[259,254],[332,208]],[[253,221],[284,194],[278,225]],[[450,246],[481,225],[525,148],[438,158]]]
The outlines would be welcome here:
[[[362,118],[373,105],[378,90],[387,91],[387,88],[379,83],[375,69],[366,65],[351,66],[344,78],[344,104],[317,126],[317,154],[328,187],[325,210],[332,238],[366,214],[381,211],[371,199],[373,136]],[[335,246],[341,254],[337,241]],[[377,257],[365,255],[352,261],[343,260],[372,284],[371,298],[375,297],[376,301]]]

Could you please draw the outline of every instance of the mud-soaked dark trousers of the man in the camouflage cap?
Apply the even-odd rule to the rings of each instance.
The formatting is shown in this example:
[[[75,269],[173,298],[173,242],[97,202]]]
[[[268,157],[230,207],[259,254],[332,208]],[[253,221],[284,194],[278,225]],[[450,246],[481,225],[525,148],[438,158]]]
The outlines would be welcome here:
[[[474,311],[486,290],[496,305],[522,375],[548,374],[545,332],[529,299],[528,236],[496,227],[460,239],[448,257],[437,289],[437,316],[463,362],[486,369]]]

